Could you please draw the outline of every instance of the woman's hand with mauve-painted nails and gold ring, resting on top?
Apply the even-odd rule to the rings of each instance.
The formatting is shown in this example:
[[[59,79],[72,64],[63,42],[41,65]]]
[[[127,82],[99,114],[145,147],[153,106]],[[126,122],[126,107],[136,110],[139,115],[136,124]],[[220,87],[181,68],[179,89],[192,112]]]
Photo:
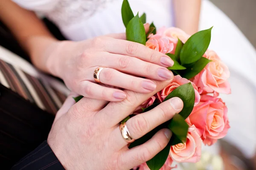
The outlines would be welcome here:
[[[139,43],[125,39],[125,34],[96,37],[81,42],[64,41],[55,47],[49,57],[49,70],[64,80],[72,91],[93,99],[122,101],[126,94],[118,88],[140,93],[150,93],[155,80],[172,79],[166,67],[172,66],[170,57]],[[103,87],[96,84],[93,72],[105,66],[99,79]]]

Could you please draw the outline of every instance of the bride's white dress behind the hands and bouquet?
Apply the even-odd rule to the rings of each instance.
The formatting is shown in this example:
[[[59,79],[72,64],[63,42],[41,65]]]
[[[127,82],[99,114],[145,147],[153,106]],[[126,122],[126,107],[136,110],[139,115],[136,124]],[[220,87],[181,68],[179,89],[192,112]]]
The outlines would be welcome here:
[[[41,12],[70,40],[125,32],[122,0],[13,0]],[[134,14],[147,14],[155,26],[174,26],[171,0],[129,0]],[[202,3],[200,29],[212,29],[210,48],[230,68],[231,95],[222,95],[229,109],[230,130],[225,137],[251,157],[256,153],[256,51],[236,25],[208,0]]]

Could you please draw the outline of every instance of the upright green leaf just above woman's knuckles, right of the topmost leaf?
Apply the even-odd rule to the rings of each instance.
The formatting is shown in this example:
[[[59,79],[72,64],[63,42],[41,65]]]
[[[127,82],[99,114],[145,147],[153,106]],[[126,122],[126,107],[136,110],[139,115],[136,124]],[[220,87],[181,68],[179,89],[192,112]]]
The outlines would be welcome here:
[[[126,40],[146,44],[146,33],[139,13],[133,17],[126,27]]]

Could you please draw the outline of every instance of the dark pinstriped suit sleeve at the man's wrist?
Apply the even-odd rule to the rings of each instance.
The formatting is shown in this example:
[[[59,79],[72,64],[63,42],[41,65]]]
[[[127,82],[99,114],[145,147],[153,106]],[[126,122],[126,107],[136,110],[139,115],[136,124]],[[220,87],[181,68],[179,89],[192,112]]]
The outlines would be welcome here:
[[[31,153],[17,162],[11,170],[64,170],[52,149],[44,141]]]

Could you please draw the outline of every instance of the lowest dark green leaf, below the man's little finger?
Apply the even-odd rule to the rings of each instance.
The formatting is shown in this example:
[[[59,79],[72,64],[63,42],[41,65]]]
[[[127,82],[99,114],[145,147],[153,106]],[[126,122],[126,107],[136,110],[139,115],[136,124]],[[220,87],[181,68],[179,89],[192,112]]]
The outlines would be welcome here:
[[[161,167],[163,167],[163,164],[168,158],[170,148],[171,146],[167,145],[163,150],[160,151],[160,153],[157,153],[156,156],[147,161],[147,165],[150,170],[159,170]]]

